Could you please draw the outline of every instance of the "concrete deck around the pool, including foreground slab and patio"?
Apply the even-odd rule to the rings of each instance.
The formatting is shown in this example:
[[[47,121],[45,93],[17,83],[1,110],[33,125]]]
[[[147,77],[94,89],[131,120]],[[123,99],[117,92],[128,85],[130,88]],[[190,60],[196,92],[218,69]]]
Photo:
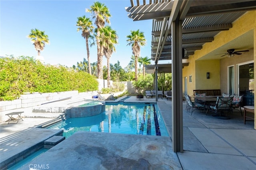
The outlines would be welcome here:
[[[133,96],[126,102],[155,102],[155,99],[136,100]],[[158,99],[157,103],[171,134],[171,101]],[[222,120],[211,113],[195,111],[190,115],[185,111],[186,102],[183,108],[183,153],[172,152],[170,137],[79,132],[31,163],[48,164],[49,169],[256,169],[254,122],[244,125],[238,111],[234,111],[231,119]],[[42,122],[38,123],[34,119],[39,118],[24,118],[18,124],[2,123],[1,138],[47,121],[40,118]]]

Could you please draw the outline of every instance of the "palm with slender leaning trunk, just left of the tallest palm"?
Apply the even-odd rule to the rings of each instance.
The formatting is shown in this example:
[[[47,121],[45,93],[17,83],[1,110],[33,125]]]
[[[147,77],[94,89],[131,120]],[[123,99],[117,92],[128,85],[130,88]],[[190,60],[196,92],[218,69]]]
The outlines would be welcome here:
[[[86,49],[87,49],[87,59],[88,59],[88,67],[89,67],[89,74],[92,75],[91,63],[90,63],[90,53],[89,53],[89,44],[88,39],[93,38],[90,34],[94,29],[92,26],[92,21],[90,18],[86,18],[85,16],[77,17],[78,21],[76,22],[76,26],[78,26],[77,31],[82,30],[82,37],[86,41]]]

